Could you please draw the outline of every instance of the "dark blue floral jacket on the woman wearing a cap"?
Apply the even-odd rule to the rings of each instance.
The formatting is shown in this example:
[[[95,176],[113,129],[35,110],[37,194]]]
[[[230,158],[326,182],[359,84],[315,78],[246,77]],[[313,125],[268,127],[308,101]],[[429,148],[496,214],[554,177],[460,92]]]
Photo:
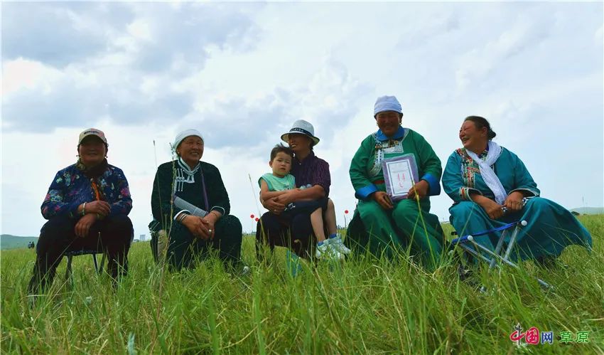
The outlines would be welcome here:
[[[132,209],[132,198],[124,171],[108,165],[107,170],[97,180],[104,201],[111,205],[109,216],[128,215]],[[45,219],[55,216],[79,218],[77,207],[84,202],[95,201],[95,191],[88,179],[76,164],[58,171],[50,184],[41,210]]]

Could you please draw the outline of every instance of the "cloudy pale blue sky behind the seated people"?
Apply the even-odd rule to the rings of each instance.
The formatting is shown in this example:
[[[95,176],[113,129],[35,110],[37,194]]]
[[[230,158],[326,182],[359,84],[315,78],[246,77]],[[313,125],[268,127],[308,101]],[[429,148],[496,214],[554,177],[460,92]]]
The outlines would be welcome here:
[[[403,125],[446,162],[482,115],[542,196],[604,206],[601,3],[4,3],[1,233],[38,235],[39,207],[77,134],[103,129],[148,234],[156,163],[182,129],[205,136],[232,214],[251,231],[269,151],[312,122],[344,224],[348,167],[396,95]],[[153,145],[155,142],[155,146]],[[451,200],[431,199],[448,218]],[[350,215],[349,215],[350,216]]]

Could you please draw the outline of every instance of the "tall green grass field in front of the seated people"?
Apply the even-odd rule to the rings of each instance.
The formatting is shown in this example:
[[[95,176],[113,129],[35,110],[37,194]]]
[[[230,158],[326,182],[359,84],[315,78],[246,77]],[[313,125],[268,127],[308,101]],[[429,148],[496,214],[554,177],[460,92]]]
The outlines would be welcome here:
[[[130,272],[114,292],[95,276],[89,255],[74,259],[74,285],[65,261],[47,296],[28,306],[33,250],[1,252],[1,344],[24,354],[604,354],[604,216],[582,216],[594,252],[573,246],[568,268],[478,270],[458,280],[456,267],[426,272],[357,255],[341,265],[304,265],[286,272],[283,250],[235,277],[215,259],[193,271],[161,272],[149,243],[135,243]],[[449,227],[450,228],[450,227]],[[555,285],[543,290],[532,275]],[[479,285],[487,287],[478,292]],[[553,344],[517,347],[515,324],[554,332]],[[588,332],[588,343],[562,343],[561,332]]]

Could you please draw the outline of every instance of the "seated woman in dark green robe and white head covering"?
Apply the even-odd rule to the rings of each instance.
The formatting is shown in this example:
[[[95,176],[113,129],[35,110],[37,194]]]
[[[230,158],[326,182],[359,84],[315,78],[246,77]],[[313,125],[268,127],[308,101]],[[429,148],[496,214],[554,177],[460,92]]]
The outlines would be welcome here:
[[[220,171],[200,161],[203,147],[197,130],[180,132],[173,143],[178,159],[161,164],[153,181],[151,248],[156,260],[165,259],[176,270],[192,267],[194,258],[211,248],[231,266],[239,263],[242,226],[229,214]]]

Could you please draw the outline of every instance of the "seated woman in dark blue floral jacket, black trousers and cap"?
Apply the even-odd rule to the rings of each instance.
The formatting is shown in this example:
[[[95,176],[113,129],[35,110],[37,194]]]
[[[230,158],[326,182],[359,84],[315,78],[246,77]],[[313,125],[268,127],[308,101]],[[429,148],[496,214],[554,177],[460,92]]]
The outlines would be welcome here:
[[[58,171],[42,203],[48,219],[40,231],[29,293],[45,289],[63,254],[104,250],[107,271],[117,280],[127,269],[132,236],[132,199],[122,169],[107,164],[107,139],[95,128],[80,133],[79,159]]]

